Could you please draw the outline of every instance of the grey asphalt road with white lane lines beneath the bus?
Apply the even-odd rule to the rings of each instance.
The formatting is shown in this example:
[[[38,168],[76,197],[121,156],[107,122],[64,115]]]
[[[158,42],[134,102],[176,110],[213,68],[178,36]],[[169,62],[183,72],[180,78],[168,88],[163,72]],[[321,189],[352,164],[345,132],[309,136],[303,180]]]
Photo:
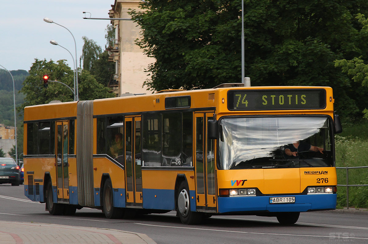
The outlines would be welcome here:
[[[45,204],[24,196],[22,185],[10,184],[0,184],[0,220],[124,230],[146,234],[156,243],[368,243],[367,215],[301,213],[293,226],[257,216],[213,216],[201,225],[183,225],[174,211],[106,219],[100,210],[82,208],[73,216],[52,216]]]

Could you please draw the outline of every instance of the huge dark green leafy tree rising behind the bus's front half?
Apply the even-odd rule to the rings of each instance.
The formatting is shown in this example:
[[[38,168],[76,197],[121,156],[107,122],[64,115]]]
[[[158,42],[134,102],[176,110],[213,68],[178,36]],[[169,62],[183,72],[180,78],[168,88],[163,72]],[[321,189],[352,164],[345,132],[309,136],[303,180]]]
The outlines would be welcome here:
[[[209,88],[241,81],[241,1],[146,1],[131,11],[142,27],[137,44],[156,62],[152,90]],[[356,86],[333,61],[367,53],[357,37],[363,0],[245,0],[245,75],[252,85],[318,85],[335,90],[344,116],[359,111]]]

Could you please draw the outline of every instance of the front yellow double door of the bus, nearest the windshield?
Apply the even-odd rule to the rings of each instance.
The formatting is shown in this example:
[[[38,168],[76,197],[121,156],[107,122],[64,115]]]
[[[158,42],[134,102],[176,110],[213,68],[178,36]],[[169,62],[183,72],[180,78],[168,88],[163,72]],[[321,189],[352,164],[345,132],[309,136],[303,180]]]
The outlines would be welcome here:
[[[197,209],[216,210],[215,143],[207,138],[207,120],[213,112],[195,113],[195,173]]]

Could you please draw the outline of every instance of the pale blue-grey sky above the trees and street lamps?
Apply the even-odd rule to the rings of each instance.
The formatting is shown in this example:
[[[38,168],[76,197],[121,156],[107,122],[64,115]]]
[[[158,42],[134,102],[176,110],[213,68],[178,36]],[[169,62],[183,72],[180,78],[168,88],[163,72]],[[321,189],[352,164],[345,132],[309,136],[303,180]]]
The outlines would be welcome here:
[[[75,45],[77,60],[82,55],[82,36],[94,40],[105,50],[105,29],[114,0],[0,0],[0,65],[10,70],[29,71],[35,58],[46,61],[67,60],[74,69]],[[83,12],[91,12],[91,16]],[[43,18],[52,19],[47,23]],[[50,44],[55,40],[60,46]],[[0,67],[1,68],[1,67]]]

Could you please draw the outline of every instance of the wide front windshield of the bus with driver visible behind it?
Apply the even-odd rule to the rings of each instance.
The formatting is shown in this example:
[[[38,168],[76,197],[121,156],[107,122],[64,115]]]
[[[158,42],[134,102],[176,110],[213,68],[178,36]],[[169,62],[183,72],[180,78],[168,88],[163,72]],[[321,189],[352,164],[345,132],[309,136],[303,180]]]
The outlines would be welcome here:
[[[326,117],[224,118],[220,121],[218,168],[333,166],[330,127]],[[310,151],[316,147],[322,153]],[[287,155],[288,149],[297,155]]]

